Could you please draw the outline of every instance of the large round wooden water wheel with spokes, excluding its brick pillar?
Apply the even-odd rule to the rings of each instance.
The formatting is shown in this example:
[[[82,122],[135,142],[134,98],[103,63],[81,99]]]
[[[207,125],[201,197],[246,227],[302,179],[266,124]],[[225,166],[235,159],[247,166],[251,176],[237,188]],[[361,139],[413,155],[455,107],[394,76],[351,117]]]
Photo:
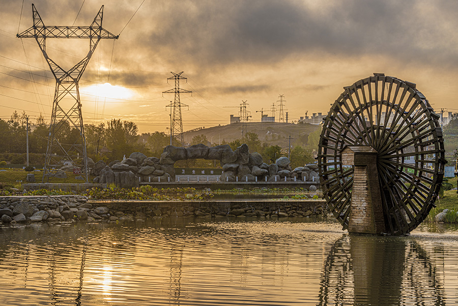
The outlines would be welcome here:
[[[342,161],[342,151],[369,148],[376,155],[379,222],[388,234],[408,233],[434,207],[444,177],[440,117],[415,84],[395,77],[375,73],[344,89],[323,120],[319,143],[328,208],[348,229],[356,166]]]

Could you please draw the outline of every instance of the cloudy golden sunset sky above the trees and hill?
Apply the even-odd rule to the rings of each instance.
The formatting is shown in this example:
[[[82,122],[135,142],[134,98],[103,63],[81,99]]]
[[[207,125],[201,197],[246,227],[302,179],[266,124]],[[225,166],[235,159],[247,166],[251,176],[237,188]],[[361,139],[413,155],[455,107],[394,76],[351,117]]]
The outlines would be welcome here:
[[[296,0],[34,0],[45,25],[90,25],[105,4],[101,40],[79,82],[83,122],[133,121],[166,132],[173,89],[183,129],[229,123],[242,100],[252,121],[284,95],[289,121],[327,113],[344,86],[376,73],[417,84],[435,108],[458,111],[458,2]],[[79,13],[78,13],[79,12]],[[129,21],[130,20],[130,21]],[[0,0],[0,118],[25,110],[49,123],[55,80],[33,38],[32,1]],[[87,39],[48,39],[70,69]],[[258,111],[258,112],[256,112]]]

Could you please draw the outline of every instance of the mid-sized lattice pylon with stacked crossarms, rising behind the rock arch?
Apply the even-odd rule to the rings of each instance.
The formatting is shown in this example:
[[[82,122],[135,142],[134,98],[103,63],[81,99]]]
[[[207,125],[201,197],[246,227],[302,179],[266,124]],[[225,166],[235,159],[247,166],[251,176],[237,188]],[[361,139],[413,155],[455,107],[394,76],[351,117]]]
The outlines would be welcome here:
[[[173,107],[173,120],[170,127],[170,134],[172,137],[177,137],[177,140],[181,142],[181,146],[184,147],[183,138],[183,120],[181,119],[181,106],[188,106],[180,102],[180,93],[192,93],[192,91],[180,88],[180,79],[186,80],[186,77],[181,76],[183,73],[170,72],[174,76],[170,76],[167,80],[175,80],[175,88],[162,92],[163,94],[175,94],[174,103],[170,103],[166,107]],[[188,106],[189,107],[189,106]]]

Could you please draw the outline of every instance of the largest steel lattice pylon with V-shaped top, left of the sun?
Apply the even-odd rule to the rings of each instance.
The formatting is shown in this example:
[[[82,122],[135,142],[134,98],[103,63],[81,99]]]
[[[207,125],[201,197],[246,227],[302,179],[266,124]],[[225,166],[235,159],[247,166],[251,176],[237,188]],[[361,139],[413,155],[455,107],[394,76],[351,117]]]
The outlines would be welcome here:
[[[48,147],[46,150],[43,181],[45,177],[61,168],[64,162],[69,161],[79,166],[85,175],[85,181],[89,181],[88,156],[81,114],[81,102],[79,97],[79,80],[84,69],[89,63],[92,54],[100,39],[118,39],[102,28],[103,6],[97,13],[90,26],[45,26],[40,14],[32,4],[34,25],[17,34],[19,38],[35,38],[43,53],[43,57],[55,77],[54,101],[52,103],[51,124],[49,126]],[[51,60],[46,52],[47,38],[87,38],[89,39],[89,52],[84,59],[73,68],[65,71],[61,66]],[[65,98],[65,100],[64,100]],[[70,102],[69,102],[70,100]],[[56,137],[62,128],[69,124],[76,128],[81,138],[73,144],[64,144]]]

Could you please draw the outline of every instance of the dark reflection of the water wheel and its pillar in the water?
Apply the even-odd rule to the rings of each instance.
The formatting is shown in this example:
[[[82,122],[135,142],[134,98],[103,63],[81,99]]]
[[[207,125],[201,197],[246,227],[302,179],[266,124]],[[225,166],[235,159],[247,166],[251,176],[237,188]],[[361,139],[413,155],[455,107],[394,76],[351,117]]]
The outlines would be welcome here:
[[[445,305],[440,272],[413,239],[344,236],[331,247],[318,305]]]

